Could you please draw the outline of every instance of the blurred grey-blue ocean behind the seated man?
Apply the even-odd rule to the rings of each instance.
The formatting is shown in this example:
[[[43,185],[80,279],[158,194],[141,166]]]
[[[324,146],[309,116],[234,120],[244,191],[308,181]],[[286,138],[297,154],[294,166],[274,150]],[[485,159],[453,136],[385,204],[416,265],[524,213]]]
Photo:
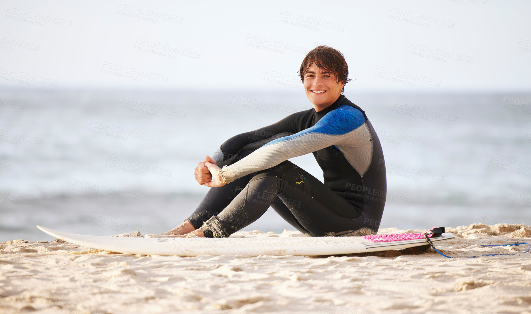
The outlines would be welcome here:
[[[380,228],[531,224],[531,94],[345,95],[382,143]],[[302,91],[0,89],[0,241],[172,229],[208,190],[205,155],[310,108]],[[322,180],[312,154],[292,161]],[[294,228],[270,208],[255,229]]]

